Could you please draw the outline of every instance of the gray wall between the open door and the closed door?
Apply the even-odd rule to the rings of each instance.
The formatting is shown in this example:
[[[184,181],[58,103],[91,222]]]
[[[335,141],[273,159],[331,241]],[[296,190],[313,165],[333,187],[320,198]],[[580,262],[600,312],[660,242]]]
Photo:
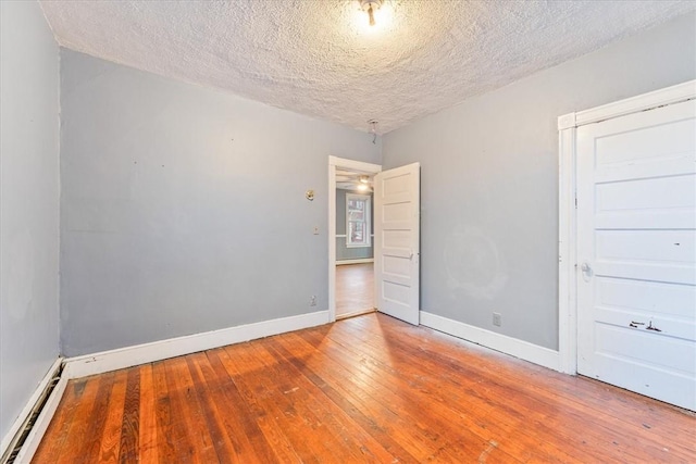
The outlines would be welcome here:
[[[387,134],[384,168],[422,165],[422,310],[557,349],[557,117],[695,77],[689,14]]]

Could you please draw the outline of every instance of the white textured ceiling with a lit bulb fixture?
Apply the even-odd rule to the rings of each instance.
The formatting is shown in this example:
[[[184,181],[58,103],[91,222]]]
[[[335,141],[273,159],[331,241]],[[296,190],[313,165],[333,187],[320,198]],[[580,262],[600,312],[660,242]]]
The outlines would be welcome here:
[[[696,10],[694,1],[42,1],[59,43],[369,130]]]

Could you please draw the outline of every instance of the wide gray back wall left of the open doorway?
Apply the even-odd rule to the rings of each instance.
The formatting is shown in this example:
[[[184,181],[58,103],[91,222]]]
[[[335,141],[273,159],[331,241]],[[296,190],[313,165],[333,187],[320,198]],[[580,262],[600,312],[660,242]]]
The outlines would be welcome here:
[[[328,308],[328,155],[381,141],[64,49],[61,86],[64,354]]]

